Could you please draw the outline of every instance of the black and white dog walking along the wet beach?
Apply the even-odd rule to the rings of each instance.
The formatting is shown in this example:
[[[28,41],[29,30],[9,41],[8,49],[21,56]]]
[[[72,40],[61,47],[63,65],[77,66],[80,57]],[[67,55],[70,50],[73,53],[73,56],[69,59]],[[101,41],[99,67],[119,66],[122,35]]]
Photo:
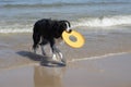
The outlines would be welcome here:
[[[56,54],[59,54],[62,59],[62,53],[56,47],[55,39],[62,38],[61,35],[63,30],[71,32],[70,27],[71,25],[69,21],[57,21],[51,18],[43,18],[37,21],[33,29],[34,52],[36,53],[36,49],[38,48],[38,45],[40,45],[41,52],[46,55],[44,46],[50,44],[52,59],[56,59]]]

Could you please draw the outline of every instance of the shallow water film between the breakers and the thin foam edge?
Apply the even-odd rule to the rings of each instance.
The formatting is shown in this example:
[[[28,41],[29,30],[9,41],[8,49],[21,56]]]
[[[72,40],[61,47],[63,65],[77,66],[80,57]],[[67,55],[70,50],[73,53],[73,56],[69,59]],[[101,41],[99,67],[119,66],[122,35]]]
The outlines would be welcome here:
[[[74,49],[66,44],[58,44],[68,62],[75,59],[84,59],[99,55],[131,52],[130,33],[107,33],[91,35],[79,30],[85,37],[85,45]],[[15,67],[16,65],[37,64],[43,59],[40,48],[38,54],[32,52],[32,34],[2,34],[0,35],[0,69]],[[51,55],[50,48],[46,46],[46,52]]]

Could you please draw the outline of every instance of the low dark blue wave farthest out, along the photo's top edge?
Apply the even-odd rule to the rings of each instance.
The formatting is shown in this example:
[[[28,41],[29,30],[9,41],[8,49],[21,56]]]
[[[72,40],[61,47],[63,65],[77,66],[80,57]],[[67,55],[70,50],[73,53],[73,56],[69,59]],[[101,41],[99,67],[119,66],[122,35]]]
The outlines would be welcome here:
[[[126,2],[111,2],[111,1],[91,1],[91,2],[55,2],[55,3],[7,3],[4,8],[52,8],[52,7],[74,7],[74,5],[107,5],[107,4],[131,4],[130,1]]]

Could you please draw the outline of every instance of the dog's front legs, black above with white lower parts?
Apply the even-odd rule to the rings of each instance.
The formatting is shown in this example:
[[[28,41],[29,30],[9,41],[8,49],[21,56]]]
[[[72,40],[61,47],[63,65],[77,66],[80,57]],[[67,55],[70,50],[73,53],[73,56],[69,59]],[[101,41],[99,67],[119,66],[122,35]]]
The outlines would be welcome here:
[[[51,47],[51,50],[52,50],[52,59],[57,61],[58,60],[57,55],[59,55],[59,58],[62,59],[62,53],[57,48],[55,39],[50,40],[50,47]]]

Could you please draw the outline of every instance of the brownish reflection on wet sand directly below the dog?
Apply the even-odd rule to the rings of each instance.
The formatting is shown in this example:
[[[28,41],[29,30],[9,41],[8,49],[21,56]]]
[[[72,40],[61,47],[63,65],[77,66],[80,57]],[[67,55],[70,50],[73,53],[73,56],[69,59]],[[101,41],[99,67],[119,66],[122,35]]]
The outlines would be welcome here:
[[[35,87],[62,87],[62,76],[66,67],[35,66]]]

